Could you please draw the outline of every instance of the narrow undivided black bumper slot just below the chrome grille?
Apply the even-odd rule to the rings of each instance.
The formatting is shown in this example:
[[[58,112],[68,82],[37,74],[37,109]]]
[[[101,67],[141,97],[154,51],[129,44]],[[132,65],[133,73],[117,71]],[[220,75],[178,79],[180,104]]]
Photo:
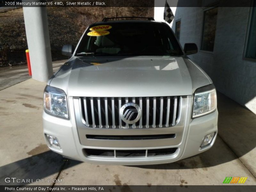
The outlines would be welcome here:
[[[87,139],[100,140],[148,140],[148,139],[170,139],[175,138],[175,134],[161,135],[86,135]]]

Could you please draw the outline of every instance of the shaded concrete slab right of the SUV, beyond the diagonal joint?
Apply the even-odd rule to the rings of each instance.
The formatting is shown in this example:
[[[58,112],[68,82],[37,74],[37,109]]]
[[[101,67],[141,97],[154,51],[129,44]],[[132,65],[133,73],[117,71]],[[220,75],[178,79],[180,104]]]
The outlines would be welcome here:
[[[256,115],[219,93],[218,135],[256,177]]]

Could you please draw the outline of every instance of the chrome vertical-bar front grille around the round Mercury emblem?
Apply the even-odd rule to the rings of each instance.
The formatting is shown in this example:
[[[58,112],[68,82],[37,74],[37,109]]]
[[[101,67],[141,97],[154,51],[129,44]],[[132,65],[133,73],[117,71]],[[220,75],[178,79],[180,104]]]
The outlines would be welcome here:
[[[107,98],[82,97],[83,122],[92,128],[161,128],[176,124],[180,108],[180,97],[133,97]],[[141,118],[127,124],[119,115],[119,109],[128,102],[136,103],[141,109]]]

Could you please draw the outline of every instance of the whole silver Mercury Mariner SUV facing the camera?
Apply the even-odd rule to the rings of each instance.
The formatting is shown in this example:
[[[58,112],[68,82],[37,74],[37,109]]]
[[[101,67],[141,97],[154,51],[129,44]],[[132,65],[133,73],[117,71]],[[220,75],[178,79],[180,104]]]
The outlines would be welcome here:
[[[89,26],[44,90],[48,147],[97,164],[163,164],[212,147],[217,98],[210,77],[153,18]]]

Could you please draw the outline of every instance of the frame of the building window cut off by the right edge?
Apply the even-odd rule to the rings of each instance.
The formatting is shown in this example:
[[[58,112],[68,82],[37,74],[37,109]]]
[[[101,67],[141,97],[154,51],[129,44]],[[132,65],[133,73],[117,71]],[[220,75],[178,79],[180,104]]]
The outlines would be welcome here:
[[[247,29],[246,29],[246,36],[245,36],[245,42],[244,42],[244,51],[243,51],[243,60],[248,60],[248,61],[252,61],[252,62],[256,62],[256,58],[249,58],[246,57],[246,52],[247,52],[247,48],[248,48],[248,41],[249,41],[249,35],[250,35],[250,29],[251,29],[251,24],[252,24],[252,13],[253,13],[253,8],[256,11],[256,7],[253,7],[253,5],[256,4],[256,0],[253,0],[251,2],[251,6],[250,6],[250,10],[248,13],[248,19],[247,19]]]

